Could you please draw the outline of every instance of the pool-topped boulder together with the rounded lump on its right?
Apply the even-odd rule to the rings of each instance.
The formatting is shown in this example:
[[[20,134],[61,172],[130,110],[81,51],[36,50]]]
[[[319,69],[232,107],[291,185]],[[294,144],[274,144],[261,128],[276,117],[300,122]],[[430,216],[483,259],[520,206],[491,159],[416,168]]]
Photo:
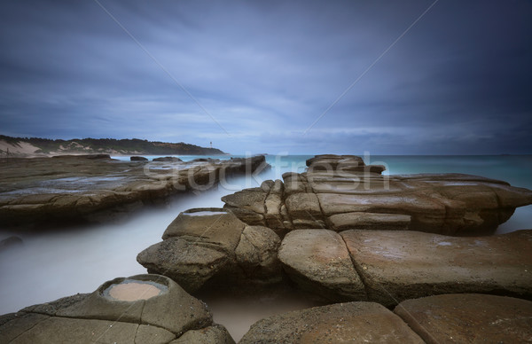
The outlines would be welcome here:
[[[273,283],[281,278],[278,235],[267,227],[248,226],[225,209],[187,210],[162,238],[138,254],[137,261],[190,293],[214,277],[226,286],[235,280]]]

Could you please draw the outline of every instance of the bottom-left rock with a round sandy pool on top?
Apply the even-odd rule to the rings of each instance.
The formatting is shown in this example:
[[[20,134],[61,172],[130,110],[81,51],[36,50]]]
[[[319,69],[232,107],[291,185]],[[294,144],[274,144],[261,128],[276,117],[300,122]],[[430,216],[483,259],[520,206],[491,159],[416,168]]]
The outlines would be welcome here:
[[[0,317],[2,343],[169,343],[212,332],[234,342],[213,324],[207,306],[169,278],[115,278],[90,294],[78,294]],[[187,334],[191,332],[190,334]],[[179,341],[178,341],[179,342]]]

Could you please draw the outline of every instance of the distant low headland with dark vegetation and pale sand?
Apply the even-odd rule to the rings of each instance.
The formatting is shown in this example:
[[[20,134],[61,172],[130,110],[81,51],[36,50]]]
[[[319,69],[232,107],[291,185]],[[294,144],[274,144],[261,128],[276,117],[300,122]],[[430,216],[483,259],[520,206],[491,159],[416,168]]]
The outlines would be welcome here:
[[[52,140],[39,137],[6,137],[0,135],[0,144],[3,144],[2,154],[10,155],[33,153],[63,154],[63,153],[108,153],[108,154],[145,154],[145,155],[217,155],[225,154],[216,148],[189,145],[183,142],[167,143],[158,141],[114,138],[74,138],[71,140]],[[11,146],[11,148],[10,148]],[[24,151],[24,152],[23,152]],[[32,152],[28,152],[32,151]]]

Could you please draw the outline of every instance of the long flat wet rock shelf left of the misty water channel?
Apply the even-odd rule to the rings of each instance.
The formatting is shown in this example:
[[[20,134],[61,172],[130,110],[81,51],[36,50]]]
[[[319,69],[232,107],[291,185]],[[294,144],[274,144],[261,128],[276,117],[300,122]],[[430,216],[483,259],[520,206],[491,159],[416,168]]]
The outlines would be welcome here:
[[[108,155],[10,159],[0,169],[0,217],[4,225],[105,221],[108,210],[126,213],[264,166],[264,156],[190,162],[120,161]]]

